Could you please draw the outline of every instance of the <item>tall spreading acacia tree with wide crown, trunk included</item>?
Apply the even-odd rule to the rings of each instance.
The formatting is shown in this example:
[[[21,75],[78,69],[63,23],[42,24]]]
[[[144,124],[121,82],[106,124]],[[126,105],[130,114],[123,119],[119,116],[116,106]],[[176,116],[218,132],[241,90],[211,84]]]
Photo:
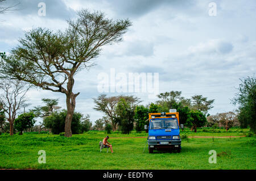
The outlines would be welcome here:
[[[36,28],[19,40],[10,56],[2,58],[2,77],[29,82],[43,90],[66,96],[65,136],[71,137],[71,121],[79,92],[73,92],[75,74],[92,66],[103,45],[122,40],[130,20],[113,20],[100,11],[81,10],[68,20],[64,32]]]

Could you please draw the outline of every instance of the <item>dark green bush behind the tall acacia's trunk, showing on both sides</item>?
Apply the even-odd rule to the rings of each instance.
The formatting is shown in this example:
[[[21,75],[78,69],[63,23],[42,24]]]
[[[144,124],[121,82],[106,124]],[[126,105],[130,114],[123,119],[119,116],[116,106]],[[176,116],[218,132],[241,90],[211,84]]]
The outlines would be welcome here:
[[[44,119],[44,125],[46,128],[50,128],[53,134],[59,134],[65,130],[65,119],[67,116],[67,110],[60,112],[53,112],[50,116]],[[90,121],[89,118],[83,118],[79,112],[74,112],[71,130],[73,134],[79,134],[84,131],[89,131]]]

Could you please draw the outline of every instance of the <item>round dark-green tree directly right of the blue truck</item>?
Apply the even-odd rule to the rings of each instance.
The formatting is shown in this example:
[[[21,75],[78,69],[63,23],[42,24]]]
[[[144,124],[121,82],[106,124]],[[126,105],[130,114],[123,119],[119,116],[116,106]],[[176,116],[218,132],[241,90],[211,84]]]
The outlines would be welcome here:
[[[204,113],[197,110],[191,110],[186,125],[191,127],[191,131],[197,132],[197,128],[203,127],[207,123]]]

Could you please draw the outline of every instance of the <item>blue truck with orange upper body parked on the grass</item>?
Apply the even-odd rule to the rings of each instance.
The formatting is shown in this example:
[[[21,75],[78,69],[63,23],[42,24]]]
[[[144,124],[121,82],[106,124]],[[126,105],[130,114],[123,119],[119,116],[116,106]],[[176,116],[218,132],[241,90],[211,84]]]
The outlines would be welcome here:
[[[149,113],[149,125],[145,125],[148,129],[148,151],[169,149],[181,151],[180,129],[183,124],[179,125],[179,112],[175,109],[170,112]]]

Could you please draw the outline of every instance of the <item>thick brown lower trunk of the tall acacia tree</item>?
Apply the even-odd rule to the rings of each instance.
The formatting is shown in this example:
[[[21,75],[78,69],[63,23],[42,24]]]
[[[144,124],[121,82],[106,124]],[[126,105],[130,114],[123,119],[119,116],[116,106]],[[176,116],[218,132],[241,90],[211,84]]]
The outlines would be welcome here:
[[[71,93],[71,95],[66,95],[66,103],[67,103],[67,116],[65,119],[64,136],[71,137],[72,136],[71,123],[72,123],[72,118],[73,118],[73,114],[76,106],[76,96],[73,93]]]

